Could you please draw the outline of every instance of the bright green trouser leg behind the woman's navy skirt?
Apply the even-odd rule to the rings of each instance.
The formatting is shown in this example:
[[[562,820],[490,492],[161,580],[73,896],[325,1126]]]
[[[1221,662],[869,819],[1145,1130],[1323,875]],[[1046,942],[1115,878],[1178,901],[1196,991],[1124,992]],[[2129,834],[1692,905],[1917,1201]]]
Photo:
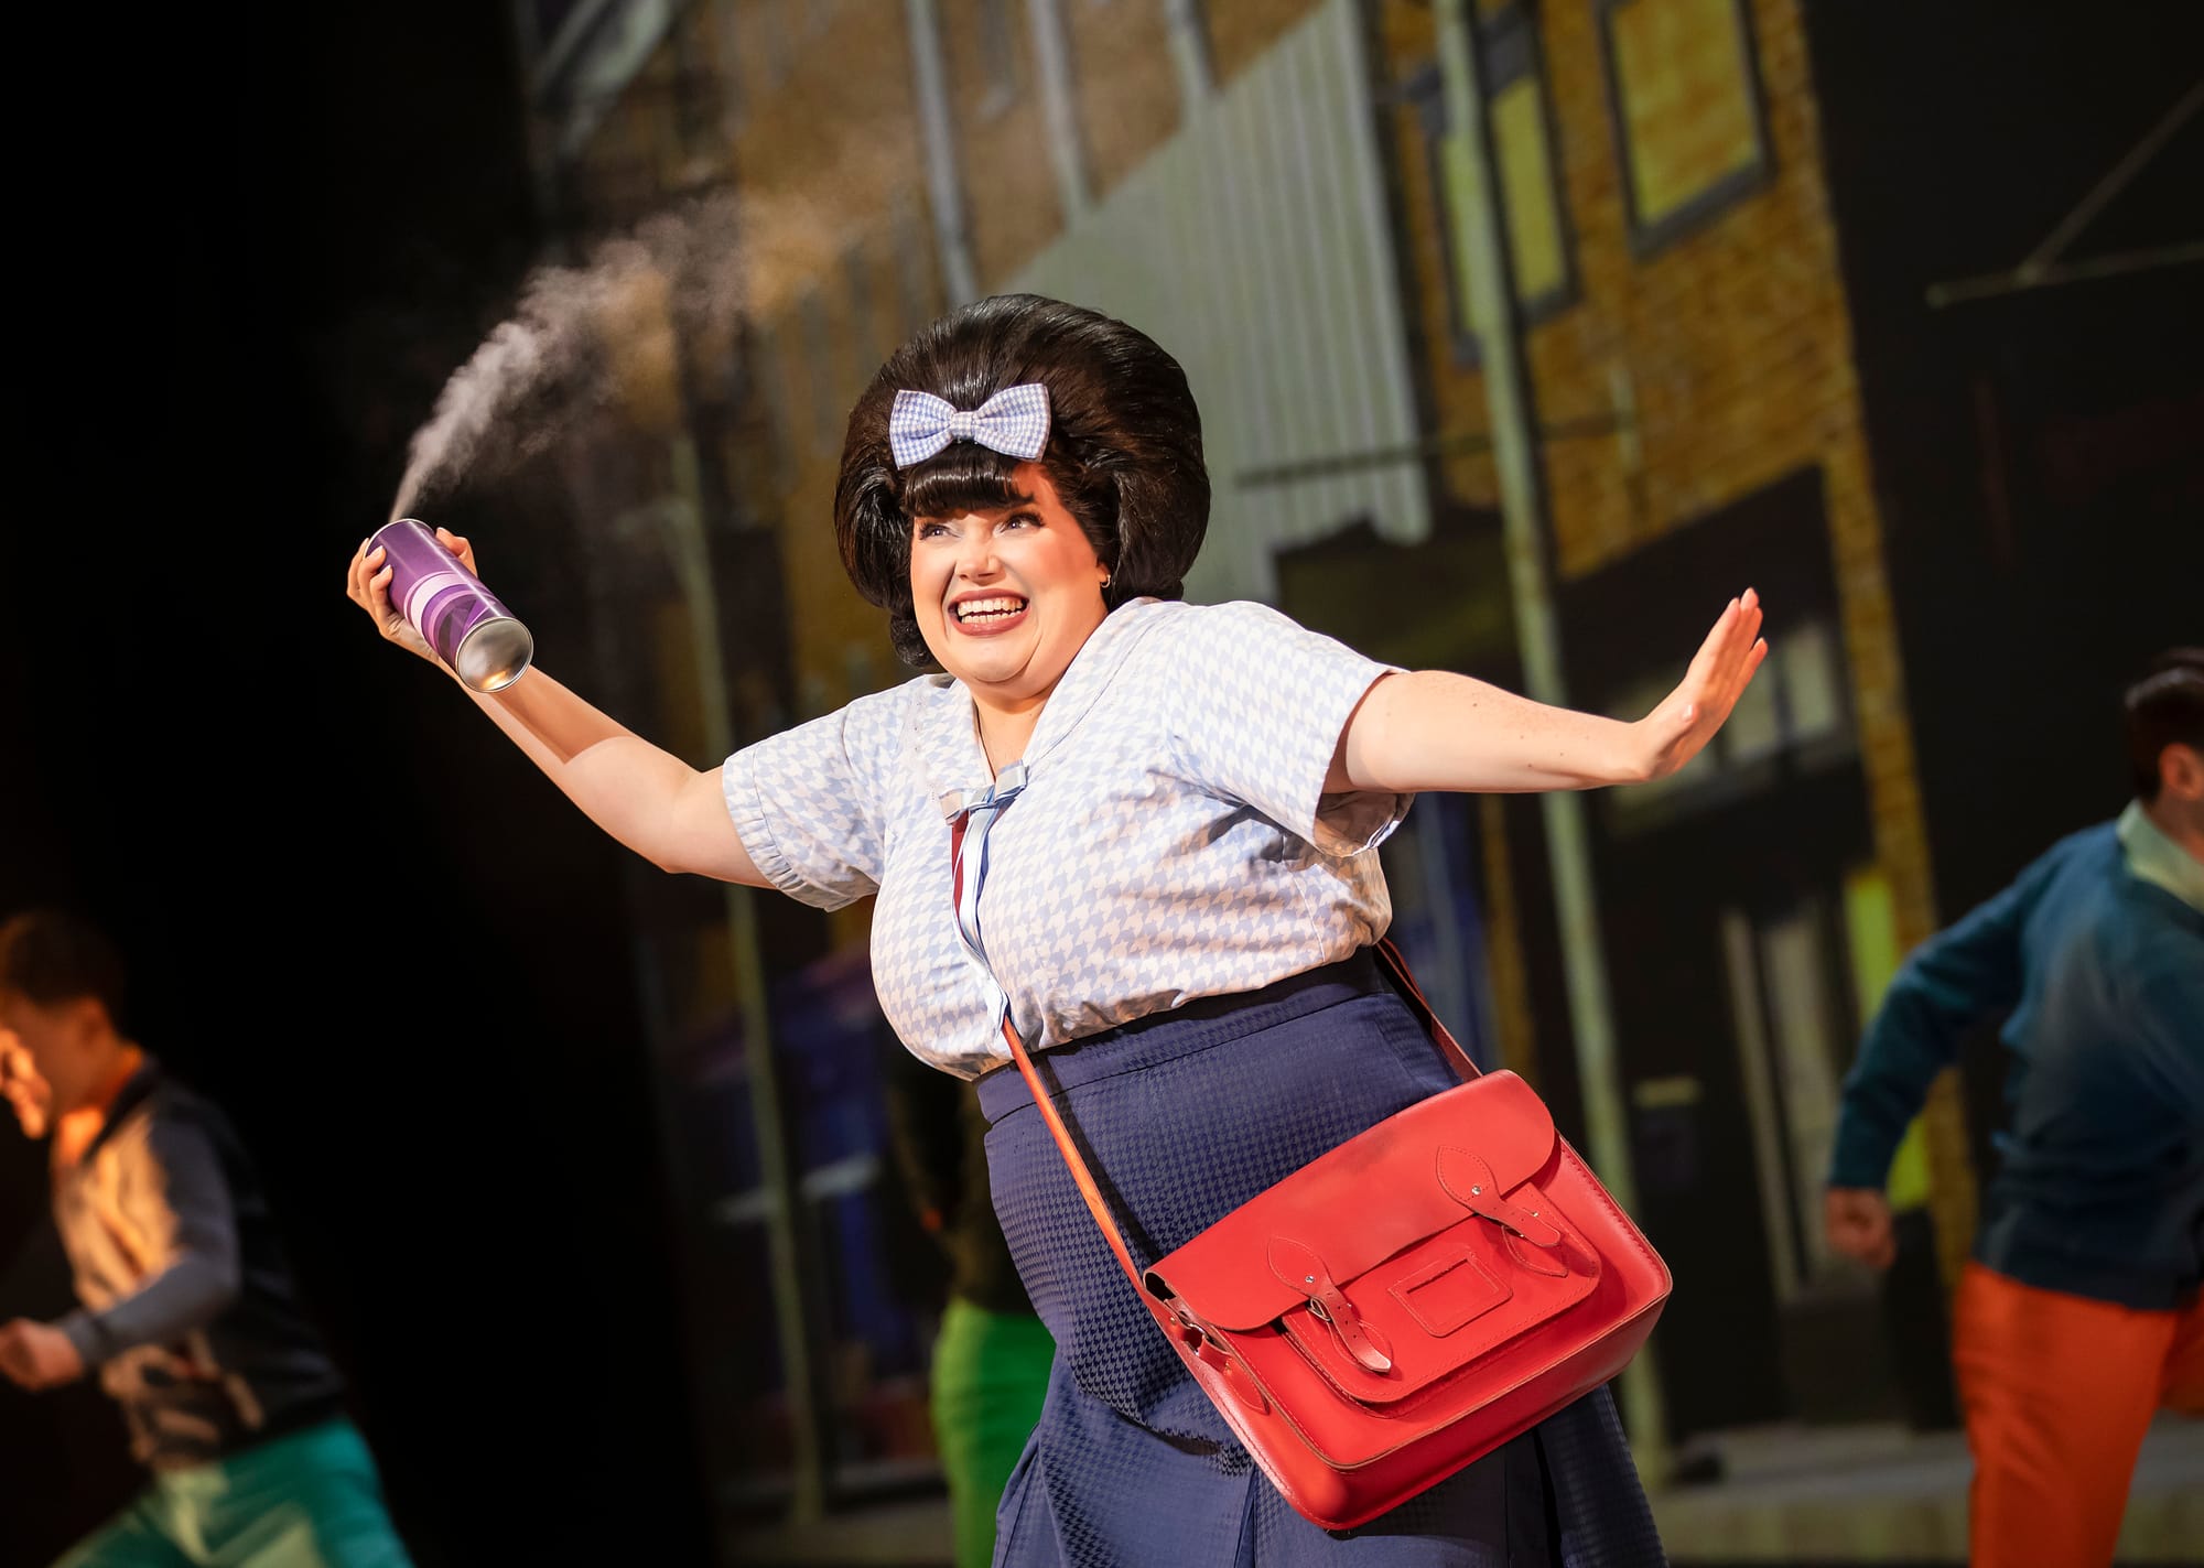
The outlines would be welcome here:
[[[957,1568],[987,1568],[994,1506],[1040,1420],[1056,1341],[1029,1313],[952,1299],[934,1339],[934,1442],[950,1482]]]

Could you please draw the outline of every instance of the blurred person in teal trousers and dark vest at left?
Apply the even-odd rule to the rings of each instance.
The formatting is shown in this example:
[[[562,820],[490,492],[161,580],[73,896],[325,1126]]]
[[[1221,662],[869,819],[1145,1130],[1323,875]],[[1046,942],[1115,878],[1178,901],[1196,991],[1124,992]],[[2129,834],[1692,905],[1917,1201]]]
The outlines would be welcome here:
[[[0,1326],[0,1374],[97,1372],[152,1471],[57,1568],[410,1568],[260,1183],[223,1114],[119,1031],[121,987],[82,921],[0,925],[0,1095],[53,1136],[82,1304]]]

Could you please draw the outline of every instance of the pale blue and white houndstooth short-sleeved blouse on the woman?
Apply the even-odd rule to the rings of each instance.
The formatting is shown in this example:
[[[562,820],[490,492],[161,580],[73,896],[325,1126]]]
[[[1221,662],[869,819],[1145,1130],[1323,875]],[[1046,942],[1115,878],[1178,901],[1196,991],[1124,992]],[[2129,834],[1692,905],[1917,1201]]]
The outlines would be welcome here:
[[[987,839],[981,918],[1027,1044],[1347,958],[1393,918],[1373,852],[1411,795],[1325,795],[1386,672],[1261,603],[1135,599],[1087,639]],[[957,936],[950,817],[992,784],[972,698],[919,676],[727,758],[743,848],[822,910],[879,894],[873,984],[923,1061],[1009,1057]]]

